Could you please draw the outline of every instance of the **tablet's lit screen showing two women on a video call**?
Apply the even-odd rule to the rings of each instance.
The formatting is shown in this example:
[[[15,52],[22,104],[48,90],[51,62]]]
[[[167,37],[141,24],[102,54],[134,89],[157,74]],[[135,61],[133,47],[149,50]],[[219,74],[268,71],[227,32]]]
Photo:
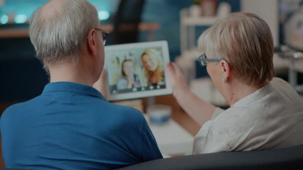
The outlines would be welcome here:
[[[165,89],[161,47],[105,54],[110,94]]]

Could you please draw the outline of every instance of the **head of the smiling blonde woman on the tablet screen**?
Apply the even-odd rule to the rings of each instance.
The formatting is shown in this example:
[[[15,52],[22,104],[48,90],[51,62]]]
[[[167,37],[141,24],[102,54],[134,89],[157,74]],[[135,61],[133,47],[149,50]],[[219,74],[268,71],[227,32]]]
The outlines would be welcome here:
[[[143,66],[146,70],[154,72],[157,70],[160,61],[160,55],[154,49],[147,49],[141,55]]]

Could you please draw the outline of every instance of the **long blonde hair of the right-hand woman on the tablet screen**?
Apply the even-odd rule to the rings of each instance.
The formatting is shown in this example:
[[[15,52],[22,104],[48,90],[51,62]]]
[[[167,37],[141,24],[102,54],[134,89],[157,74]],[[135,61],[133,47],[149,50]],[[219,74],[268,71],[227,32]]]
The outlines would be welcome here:
[[[150,57],[157,59],[157,61],[158,61],[158,67],[157,67],[158,82],[163,81],[164,80],[164,67],[163,67],[162,58],[161,58],[159,52],[155,49],[146,49],[141,55],[141,61],[142,61],[142,57],[144,54],[147,54]],[[142,63],[143,63],[143,61],[142,61]],[[146,70],[145,67],[143,66],[143,75],[144,75],[143,86],[148,86],[149,80],[150,80],[151,76],[153,75],[153,72]]]

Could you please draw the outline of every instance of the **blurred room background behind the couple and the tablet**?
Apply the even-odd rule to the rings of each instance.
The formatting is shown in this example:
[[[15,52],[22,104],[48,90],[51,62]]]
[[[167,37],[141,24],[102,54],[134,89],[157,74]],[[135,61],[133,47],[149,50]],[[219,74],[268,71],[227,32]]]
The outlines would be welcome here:
[[[49,82],[41,63],[35,58],[27,30],[31,13],[47,2],[0,0],[0,114],[13,103],[40,95]],[[89,2],[98,10],[102,29],[111,32],[107,45],[167,40],[171,60],[181,67],[191,90],[220,107],[228,105],[214,88],[206,68],[200,67],[195,61],[200,55],[196,48],[197,38],[216,19],[226,17],[231,12],[256,13],[266,20],[273,33],[276,76],[289,81],[298,93],[303,94],[300,85],[303,83],[303,59],[299,57],[303,51],[302,0]],[[169,100],[173,98],[166,101]],[[196,131],[198,129],[192,134]]]

